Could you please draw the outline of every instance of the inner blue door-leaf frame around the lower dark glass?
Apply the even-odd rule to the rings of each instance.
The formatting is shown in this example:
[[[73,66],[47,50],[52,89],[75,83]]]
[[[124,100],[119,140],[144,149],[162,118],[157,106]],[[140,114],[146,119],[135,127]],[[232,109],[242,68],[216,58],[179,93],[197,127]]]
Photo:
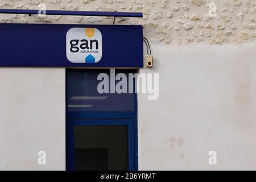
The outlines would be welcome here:
[[[128,156],[129,156],[129,170],[133,171],[135,170],[134,165],[134,123],[133,120],[109,120],[109,119],[103,119],[103,120],[79,120],[79,121],[68,121],[68,164],[67,169],[68,170],[74,170],[75,169],[75,158],[74,158],[74,133],[73,129],[74,126],[98,126],[98,125],[127,125],[128,126]]]

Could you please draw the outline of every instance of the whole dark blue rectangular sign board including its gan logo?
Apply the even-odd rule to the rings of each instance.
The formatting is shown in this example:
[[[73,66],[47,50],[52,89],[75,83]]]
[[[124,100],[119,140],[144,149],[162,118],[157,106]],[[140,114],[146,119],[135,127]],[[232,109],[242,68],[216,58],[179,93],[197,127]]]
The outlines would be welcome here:
[[[142,26],[0,24],[1,67],[143,67]]]

